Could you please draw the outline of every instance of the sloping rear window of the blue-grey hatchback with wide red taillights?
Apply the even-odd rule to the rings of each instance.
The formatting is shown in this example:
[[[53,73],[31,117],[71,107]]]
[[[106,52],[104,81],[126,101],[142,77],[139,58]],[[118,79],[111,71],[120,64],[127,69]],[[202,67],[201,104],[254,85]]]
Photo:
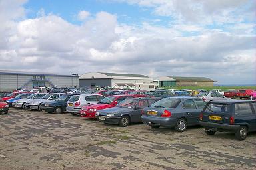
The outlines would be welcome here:
[[[180,98],[164,98],[158,102],[155,102],[151,106],[155,108],[176,108],[180,102]]]

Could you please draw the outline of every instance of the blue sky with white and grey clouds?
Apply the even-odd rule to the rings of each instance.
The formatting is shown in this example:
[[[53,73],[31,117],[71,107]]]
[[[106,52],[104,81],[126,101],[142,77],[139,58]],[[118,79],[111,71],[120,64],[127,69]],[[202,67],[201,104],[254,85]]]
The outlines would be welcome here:
[[[0,0],[0,70],[256,84],[254,0]]]

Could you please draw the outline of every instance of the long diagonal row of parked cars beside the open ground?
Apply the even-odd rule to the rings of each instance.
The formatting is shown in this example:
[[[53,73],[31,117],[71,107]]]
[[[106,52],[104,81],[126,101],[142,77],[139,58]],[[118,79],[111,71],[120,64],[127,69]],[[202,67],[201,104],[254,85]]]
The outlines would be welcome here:
[[[34,93],[28,96],[29,92],[21,92],[17,96],[26,94],[27,98],[9,98],[6,100],[9,103],[1,103],[0,112],[6,114],[9,106],[56,114],[67,111],[107,124],[129,126],[133,122],[143,122],[152,128],[170,127],[179,132],[185,131],[187,126],[201,124],[207,135],[232,131],[239,140],[245,139],[249,131],[256,131],[256,102],[252,100],[231,100],[218,92],[168,98],[147,96],[135,90],[119,92],[121,94],[108,97],[95,93]],[[157,92],[165,90],[153,93]]]

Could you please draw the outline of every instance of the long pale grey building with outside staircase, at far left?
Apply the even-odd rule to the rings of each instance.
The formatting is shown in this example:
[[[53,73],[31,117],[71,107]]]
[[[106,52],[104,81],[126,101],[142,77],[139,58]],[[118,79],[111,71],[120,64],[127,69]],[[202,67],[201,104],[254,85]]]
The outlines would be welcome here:
[[[78,87],[78,77],[77,75],[0,70],[0,91],[10,91],[17,88],[31,89],[42,86]]]

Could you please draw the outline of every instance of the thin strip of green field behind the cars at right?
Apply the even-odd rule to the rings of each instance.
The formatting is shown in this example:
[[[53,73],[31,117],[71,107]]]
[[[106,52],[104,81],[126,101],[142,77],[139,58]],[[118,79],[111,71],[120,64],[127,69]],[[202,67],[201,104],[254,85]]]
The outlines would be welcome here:
[[[256,86],[213,86],[213,87],[209,87],[209,86],[177,86],[177,87],[161,87],[161,88],[165,88],[165,89],[169,89],[169,88],[175,88],[178,90],[181,89],[191,89],[191,90],[197,90],[197,89],[205,89],[205,90],[211,90],[211,89],[222,89],[222,90],[227,90],[227,89],[256,89]]]

